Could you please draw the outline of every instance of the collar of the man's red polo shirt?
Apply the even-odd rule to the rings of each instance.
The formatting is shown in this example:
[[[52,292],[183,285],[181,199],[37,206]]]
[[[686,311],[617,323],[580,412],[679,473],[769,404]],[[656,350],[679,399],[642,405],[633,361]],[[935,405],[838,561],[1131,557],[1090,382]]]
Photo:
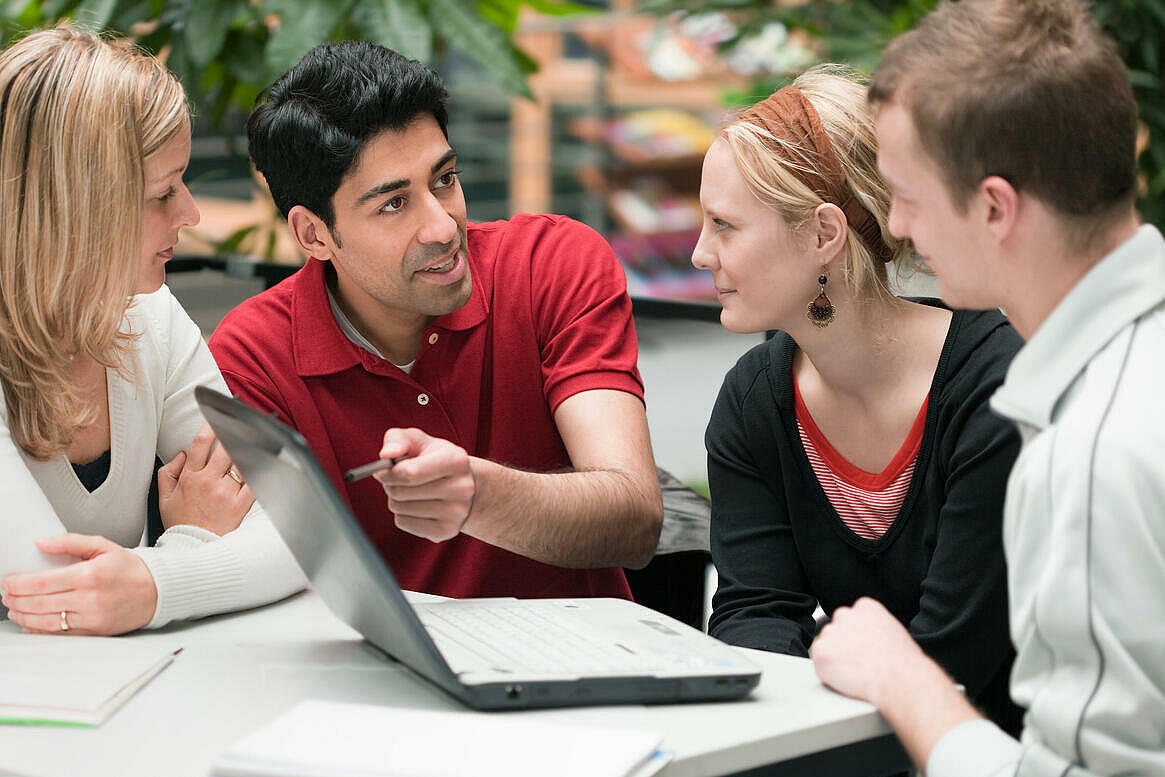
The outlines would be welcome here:
[[[473,255],[473,252],[469,252]],[[479,267],[471,266],[473,290],[469,299],[451,313],[440,316],[431,329],[469,330],[486,320],[489,303]],[[309,259],[295,275],[291,291],[291,353],[299,376],[331,375],[376,359],[344,334],[327,302],[327,263]],[[363,354],[363,355],[362,355]],[[389,362],[384,362],[386,365]]]

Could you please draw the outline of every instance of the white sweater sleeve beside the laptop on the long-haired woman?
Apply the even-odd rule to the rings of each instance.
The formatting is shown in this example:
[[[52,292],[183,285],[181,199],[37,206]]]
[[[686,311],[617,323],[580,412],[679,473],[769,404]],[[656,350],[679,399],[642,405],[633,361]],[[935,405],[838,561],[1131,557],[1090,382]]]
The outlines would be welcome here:
[[[195,387],[226,391],[198,326],[169,289],[139,297],[146,325],[143,362],[161,377],[157,454],[163,461],[185,450],[203,424]],[[146,353],[155,342],[156,353]],[[162,366],[163,373],[157,373]],[[154,376],[151,376],[153,380]],[[157,608],[147,628],[172,620],[256,607],[299,591],[306,579],[270,520],[256,503],[234,531],[219,537],[197,527],[172,527],[151,548],[135,552],[157,587]]]

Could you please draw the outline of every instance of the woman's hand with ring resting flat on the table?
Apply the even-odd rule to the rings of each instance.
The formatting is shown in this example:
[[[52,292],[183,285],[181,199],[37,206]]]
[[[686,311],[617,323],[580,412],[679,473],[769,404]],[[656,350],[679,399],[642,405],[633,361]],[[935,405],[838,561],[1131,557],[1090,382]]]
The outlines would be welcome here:
[[[79,560],[0,580],[8,619],[24,631],[123,634],[140,629],[154,617],[157,607],[154,577],[146,561],[128,549],[105,537],[75,534],[37,539],[36,546],[45,553],[75,556]]]

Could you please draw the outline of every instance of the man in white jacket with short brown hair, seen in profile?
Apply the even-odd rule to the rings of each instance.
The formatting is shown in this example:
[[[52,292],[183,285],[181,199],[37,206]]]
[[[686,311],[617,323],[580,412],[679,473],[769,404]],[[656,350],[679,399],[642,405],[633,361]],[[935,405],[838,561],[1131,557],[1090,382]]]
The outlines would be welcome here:
[[[1004,551],[1017,742],[884,608],[813,645],[930,777],[1165,774],[1165,240],[1135,211],[1137,106],[1080,0],[944,2],[871,84],[890,229],[948,304],[1028,340],[993,400],[1024,447]]]

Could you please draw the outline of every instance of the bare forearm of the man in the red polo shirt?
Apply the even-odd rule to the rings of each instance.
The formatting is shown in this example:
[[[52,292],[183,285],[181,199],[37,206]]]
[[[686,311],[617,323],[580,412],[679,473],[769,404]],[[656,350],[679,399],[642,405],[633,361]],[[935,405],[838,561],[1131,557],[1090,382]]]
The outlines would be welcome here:
[[[471,458],[475,494],[463,531],[545,564],[572,568],[651,560],[663,525],[655,471],[535,473]]]

